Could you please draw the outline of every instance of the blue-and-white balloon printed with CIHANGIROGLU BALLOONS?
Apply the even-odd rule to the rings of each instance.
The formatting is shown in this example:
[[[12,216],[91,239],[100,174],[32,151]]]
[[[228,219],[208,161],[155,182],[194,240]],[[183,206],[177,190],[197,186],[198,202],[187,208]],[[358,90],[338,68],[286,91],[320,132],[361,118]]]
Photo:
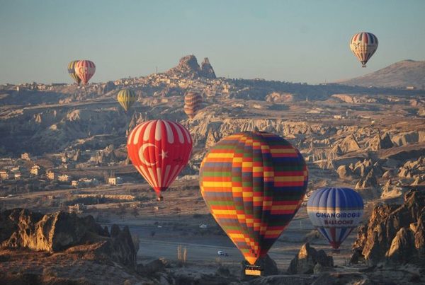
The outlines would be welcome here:
[[[338,250],[361,221],[363,199],[350,188],[321,188],[308,199],[307,213],[317,231]]]

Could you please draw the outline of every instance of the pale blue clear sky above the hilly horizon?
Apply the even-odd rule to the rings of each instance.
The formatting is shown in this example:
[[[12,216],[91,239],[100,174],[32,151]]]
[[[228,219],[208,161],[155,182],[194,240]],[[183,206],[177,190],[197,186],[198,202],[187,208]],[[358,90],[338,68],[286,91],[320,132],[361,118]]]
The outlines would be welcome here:
[[[363,30],[379,39],[367,69],[348,49]],[[217,76],[351,78],[425,59],[425,1],[0,0],[0,83],[70,83],[72,59],[95,62],[94,82],[145,76],[186,54]]]

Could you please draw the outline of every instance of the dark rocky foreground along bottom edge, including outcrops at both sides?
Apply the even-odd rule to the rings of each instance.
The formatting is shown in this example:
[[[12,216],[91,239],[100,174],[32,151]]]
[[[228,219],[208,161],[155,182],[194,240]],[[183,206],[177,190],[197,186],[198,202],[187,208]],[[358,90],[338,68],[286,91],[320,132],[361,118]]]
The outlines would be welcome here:
[[[101,227],[92,216],[25,209],[0,215],[0,277],[4,284],[411,284],[425,282],[425,194],[411,190],[401,205],[378,205],[358,229],[353,255],[334,263],[305,243],[287,269],[266,256],[264,277],[240,265],[186,258],[137,262],[139,240],[128,228]],[[143,251],[143,248],[142,248]],[[100,273],[100,274],[99,274]]]

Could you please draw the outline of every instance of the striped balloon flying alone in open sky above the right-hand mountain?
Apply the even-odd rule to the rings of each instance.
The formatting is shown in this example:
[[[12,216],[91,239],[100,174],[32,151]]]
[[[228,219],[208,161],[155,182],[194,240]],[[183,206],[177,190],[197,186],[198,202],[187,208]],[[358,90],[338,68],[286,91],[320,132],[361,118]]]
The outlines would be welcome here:
[[[351,52],[361,62],[362,67],[366,67],[366,63],[378,49],[378,37],[373,33],[357,33],[350,40]]]

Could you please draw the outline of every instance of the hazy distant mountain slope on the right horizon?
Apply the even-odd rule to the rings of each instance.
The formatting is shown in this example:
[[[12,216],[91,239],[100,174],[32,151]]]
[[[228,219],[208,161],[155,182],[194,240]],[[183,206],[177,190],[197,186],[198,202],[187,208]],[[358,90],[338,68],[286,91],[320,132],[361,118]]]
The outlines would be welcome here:
[[[425,89],[425,61],[403,60],[370,74],[338,83],[363,87],[407,88],[412,86]]]

